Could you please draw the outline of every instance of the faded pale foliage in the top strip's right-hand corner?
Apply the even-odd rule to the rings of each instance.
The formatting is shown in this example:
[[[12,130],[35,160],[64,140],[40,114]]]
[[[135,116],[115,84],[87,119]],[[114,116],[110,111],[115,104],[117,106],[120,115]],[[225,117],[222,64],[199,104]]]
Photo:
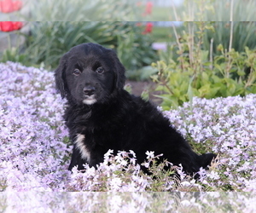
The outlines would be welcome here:
[[[165,10],[164,10],[165,11]],[[161,9],[153,9],[151,20],[177,21],[254,21],[254,0],[184,0],[176,7],[166,7],[166,13]],[[159,18],[160,17],[160,18]]]

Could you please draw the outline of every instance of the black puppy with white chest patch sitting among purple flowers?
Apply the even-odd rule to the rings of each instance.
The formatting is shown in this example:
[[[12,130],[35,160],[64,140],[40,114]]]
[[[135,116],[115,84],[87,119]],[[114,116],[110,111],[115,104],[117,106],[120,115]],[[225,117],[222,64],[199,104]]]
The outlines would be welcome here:
[[[163,153],[172,164],[193,174],[215,154],[194,153],[167,118],[148,101],[125,91],[125,67],[112,49],[83,43],[63,55],[55,70],[56,88],[67,98],[64,115],[73,155],[69,170],[103,162],[108,149],[133,150],[143,163],[146,151]]]

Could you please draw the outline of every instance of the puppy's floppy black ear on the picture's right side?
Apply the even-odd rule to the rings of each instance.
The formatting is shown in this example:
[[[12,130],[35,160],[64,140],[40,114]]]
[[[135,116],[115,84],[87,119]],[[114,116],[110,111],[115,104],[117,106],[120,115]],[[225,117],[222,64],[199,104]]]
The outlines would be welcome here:
[[[112,50],[111,55],[114,62],[115,88],[120,90],[125,86],[125,66],[122,65],[116,53]]]

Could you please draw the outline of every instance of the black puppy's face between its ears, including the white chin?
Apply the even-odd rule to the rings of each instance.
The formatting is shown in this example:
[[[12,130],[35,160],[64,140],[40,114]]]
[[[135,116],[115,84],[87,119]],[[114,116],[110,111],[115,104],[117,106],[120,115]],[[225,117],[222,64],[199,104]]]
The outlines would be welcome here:
[[[114,87],[110,61],[104,53],[83,52],[67,59],[67,88],[76,102],[91,105],[108,99]]]

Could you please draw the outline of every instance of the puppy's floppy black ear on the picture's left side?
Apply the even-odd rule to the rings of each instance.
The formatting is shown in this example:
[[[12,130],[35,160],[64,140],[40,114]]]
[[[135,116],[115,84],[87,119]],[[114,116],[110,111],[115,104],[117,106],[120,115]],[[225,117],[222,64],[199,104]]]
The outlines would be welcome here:
[[[56,89],[60,91],[62,98],[64,98],[67,95],[67,83],[65,78],[66,66],[67,66],[67,55],[63,55],[61,57],[59,66],[55,70]]]

